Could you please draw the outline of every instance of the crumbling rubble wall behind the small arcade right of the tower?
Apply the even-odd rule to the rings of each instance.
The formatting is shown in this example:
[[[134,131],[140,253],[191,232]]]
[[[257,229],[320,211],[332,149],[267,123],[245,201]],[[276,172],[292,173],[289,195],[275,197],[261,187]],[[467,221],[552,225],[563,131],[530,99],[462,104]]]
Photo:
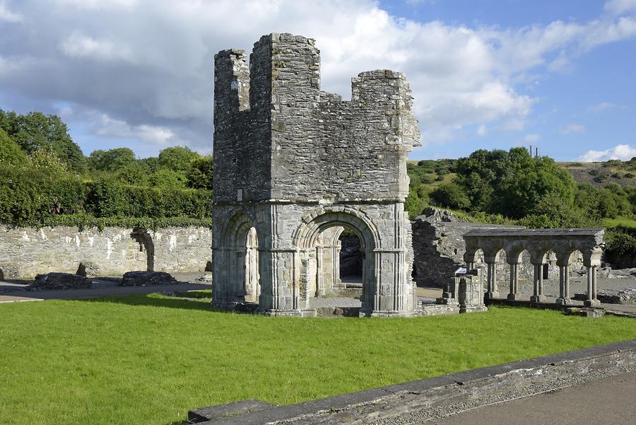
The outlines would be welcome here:
[[[487,223],[466,223],[457,221],[448,211],[427,209],[425,214],[413,221],[413,262],[414,279],[418,286],[443,286],[459,267],[464,267],[464,233],[474,229],[488,228],[523,228],[522,226],[501,226]],[[476,267],[485,269],[483,253],[478,256]],[[548,252],[548,279],[558,279],[559,267],[553,252]],[[577,252],[572,258],[571,274],[575,275],[583,267],[583,258]],[[497,276],[506,281],[510,266],[506,262],[506,254],[501,251],[497,259]],[[524,251],[522,263],[519,264],[519,279],[529,280],[534,274],[530,264],[530,255]]]

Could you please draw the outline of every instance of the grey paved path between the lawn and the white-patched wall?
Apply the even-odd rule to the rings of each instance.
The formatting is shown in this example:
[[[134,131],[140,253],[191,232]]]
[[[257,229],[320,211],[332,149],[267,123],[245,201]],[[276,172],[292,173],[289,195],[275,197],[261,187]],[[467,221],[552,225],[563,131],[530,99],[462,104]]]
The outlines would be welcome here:
[[[112,286],[96,289],[62,289],[50,291],[11,291],[0,293],[0,303],[16,301],[68,300],[78,298],[99,298],[102,296],[124,296],[146,293],[167,293],[175,291],[192,291],[194,289],[211,289],[210,284],[183,283],[175,285],[151,286]]]

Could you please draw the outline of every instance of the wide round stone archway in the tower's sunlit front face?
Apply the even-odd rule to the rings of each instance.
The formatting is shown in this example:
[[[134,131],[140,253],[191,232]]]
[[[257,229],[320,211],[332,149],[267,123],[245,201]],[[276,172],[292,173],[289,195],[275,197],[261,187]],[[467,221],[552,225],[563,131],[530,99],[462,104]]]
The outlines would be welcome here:
[[[309,308],[310,298],[326,296],[341,285],[339,279],[338,240],[344,229],[348,229],[360,241],[363,252],[361,283],[362,312],[370,314],[377,309],[376,248],[379,235],[373,223],[360,211],[325,212],[303,223],[294,236],[298,247],[298,305]]]

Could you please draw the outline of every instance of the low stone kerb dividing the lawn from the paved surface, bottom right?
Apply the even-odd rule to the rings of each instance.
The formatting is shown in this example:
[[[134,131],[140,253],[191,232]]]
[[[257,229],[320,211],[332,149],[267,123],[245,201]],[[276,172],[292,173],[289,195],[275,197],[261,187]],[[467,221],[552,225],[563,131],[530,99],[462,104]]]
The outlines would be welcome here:
[[[533,385],[567,386],[566,380],[603,371],[636,370],[636,339],[552,354],[327,397],[202,422],[208,425],[367,424],[411,412],[522,391]],[[222,404],[218,409],[227,409]],[[215,407],[207,407],[214,412]],[[197,411],[193,411],[197,412]]]

